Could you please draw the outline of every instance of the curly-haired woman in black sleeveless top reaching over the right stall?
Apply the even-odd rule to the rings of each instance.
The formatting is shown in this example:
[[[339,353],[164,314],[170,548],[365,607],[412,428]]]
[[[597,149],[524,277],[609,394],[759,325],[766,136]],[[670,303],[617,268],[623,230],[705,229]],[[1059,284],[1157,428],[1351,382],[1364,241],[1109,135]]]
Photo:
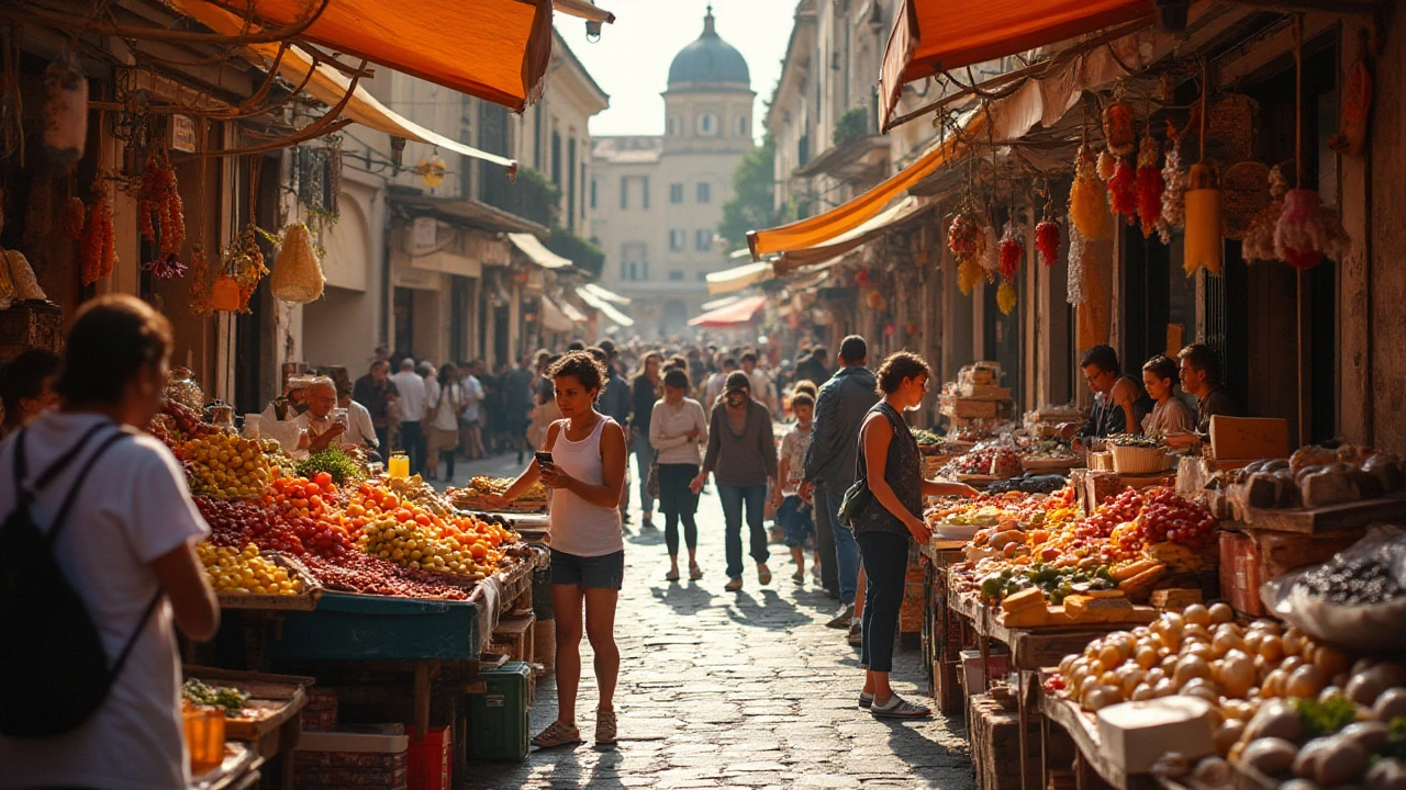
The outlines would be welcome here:
[[[928,543],[932,537],[922,522],[924,496],[976,496],[969,485],[922,478],[922,455],[903,412],[922,405],[931,377],[922,357],[908,351],[890,354],[879,368],[883,401],[875,403],[859,429],[863,453],[855,468],[873,493],[873,500],[851,522],[869,582],[860,659],[868,669],[859,707],[868,707],[877,717],[920,718],[932,713],[900,699],[889,686],[893,638],[908,571],[908,540]]]

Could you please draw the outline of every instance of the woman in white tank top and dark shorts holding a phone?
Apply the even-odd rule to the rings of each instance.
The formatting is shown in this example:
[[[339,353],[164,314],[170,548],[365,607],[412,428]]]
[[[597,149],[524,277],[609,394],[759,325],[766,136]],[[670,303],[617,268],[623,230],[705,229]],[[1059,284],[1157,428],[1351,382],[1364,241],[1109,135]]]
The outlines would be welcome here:
[[[614,644],[616,602],[624,576],[620,492],[624,488],[624,430],[596,410],[605,387],[603,361],[572,351],[547,370],[564,419],[551,423],[541,451],[502,498],[502,506],[538,479],[551,489],[551,604],[557,614],[557,721],[533,738],[537,748],[581,742],[576,687],[581,683],[582,611],[596,654],[596,744],[616,742],[613,706],[620,675]]]

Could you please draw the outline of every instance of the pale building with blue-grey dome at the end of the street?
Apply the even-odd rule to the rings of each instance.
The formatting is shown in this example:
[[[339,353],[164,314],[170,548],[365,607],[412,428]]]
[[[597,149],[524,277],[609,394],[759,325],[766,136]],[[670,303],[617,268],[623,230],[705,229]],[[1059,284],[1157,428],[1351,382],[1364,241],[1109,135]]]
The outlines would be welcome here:
[[[641,336],[686,333],[709,301],[707,274],[728,266],[717,226],[733,170],[752,148],[751,83],[710,8],[703,34],[669,66],[664,136],[595,141],[591,214],[606,253],[602,283],[634,299]]]

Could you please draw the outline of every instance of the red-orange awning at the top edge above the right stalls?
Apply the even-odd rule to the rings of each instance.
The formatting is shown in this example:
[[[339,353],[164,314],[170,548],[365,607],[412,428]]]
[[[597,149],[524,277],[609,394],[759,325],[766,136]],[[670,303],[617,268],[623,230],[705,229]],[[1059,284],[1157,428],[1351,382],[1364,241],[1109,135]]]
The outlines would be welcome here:
[[[1156,13],[1153,0],[904,0],[879,80],[883,127],[903,86]]]

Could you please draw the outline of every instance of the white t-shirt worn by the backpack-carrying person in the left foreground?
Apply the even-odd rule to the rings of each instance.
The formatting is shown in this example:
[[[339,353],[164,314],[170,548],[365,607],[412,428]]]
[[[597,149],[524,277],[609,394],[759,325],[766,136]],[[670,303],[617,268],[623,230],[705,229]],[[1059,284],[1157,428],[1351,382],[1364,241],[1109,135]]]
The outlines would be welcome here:
[[[107,417],[94,413],[41,416],[25,437],[30,479],[103,422]],[[98,441],[90,440],[38,493],[32,513],[41,527],[48,529]],[[8,516],[15,505],[14,437],[0,446],[0,513]],[[55,548],[59,566],[97,623],[108,662],[136,633],[160,589],[150,562],[208,534],[180,464],[156,439],[122,439],[93,467]],[[0,789],[183,790],[188,777],[180,685],[172,607],[163,600],[93,718],[56,738],[0,735]]]

